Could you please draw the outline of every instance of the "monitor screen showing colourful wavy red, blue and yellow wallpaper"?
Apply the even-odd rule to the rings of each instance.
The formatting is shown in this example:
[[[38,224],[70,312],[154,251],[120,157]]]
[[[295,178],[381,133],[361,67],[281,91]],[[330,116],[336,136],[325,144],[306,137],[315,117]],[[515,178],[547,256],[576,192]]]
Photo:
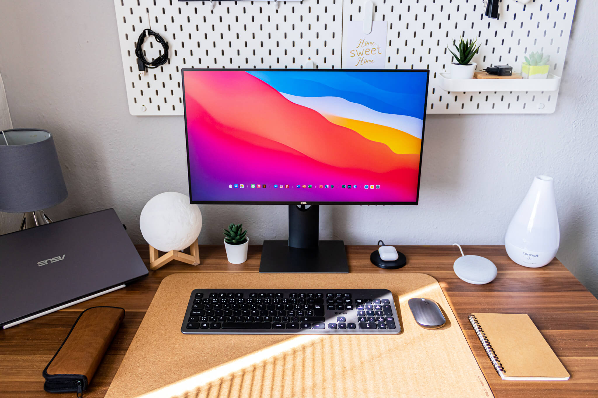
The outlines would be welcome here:
[[[416,202],[427,71],[183,79],[193,202]]]

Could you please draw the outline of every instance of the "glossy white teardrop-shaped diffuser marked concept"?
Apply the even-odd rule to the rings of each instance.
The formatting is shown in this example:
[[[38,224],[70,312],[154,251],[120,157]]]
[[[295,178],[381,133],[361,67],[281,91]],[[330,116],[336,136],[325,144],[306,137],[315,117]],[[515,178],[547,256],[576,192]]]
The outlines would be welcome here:
[[[544,267],[559,250],[560,232],[554,180],[538,175],[515,212],[505,235],[511,260],[524,267]]]

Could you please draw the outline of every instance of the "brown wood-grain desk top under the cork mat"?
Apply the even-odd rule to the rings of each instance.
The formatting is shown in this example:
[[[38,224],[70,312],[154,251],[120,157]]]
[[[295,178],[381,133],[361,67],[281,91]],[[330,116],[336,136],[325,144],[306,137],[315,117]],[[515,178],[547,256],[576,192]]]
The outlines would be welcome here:
[[[480,286],[462,282],[453,273],[453,261],[459,255],[456,246],[397,248],[407,256],[407,266],[382,270],[370,263],[376,246],[347,246],[349,270],[421,272],[435,277],[496,397],[598,396],[598,300],[558,260],[539,269],[526,268],[509,260],[504,246],[463,246],[467,254],[487,257],[498,267],[494,282]],[[148,263],[147,246],[139,245],[138,249]],[[93,306],[124,307],[123,326],[85,394],[103,397],[164,277],[175,272],[257,272],[260,253],[261,246],[250,246],[248,261],[233,265],[226,260],[224,246],[201,246],[202,263],[197,267],[171,263],[150,271],[147,278],[127,288],[0,331],[0,396],[56,398],[56,394],[43,391],[41,372],[78,314]],[[472,312],[529,314],[571,374],[570,380],[502,381],[467,320]]]

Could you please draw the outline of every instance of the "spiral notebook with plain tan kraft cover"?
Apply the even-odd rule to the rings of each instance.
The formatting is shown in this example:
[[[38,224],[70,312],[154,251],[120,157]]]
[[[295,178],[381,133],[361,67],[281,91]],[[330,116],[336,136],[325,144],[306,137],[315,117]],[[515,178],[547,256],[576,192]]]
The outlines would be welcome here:
[[[468,319],[502,380],[569,380],[527,314],[471,314]]]

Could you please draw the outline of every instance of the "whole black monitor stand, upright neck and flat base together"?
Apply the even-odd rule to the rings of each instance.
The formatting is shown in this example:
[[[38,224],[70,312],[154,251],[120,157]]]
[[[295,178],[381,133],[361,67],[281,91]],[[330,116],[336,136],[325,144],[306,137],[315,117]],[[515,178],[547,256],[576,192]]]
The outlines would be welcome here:
[[[289,240],[264,240],[260,272],[347,273],[342,240],[318,240],[319,205],[289,205]]]

